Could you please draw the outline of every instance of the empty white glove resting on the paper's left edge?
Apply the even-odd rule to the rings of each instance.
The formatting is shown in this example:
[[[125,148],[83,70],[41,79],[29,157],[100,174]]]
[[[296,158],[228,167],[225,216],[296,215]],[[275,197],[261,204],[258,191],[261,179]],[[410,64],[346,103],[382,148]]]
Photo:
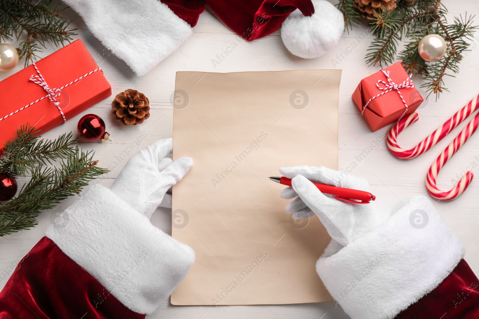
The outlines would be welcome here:
[[[110,189],[148,218],[158,206],[171,208],[171,186],[185,176],[193,159],[172,161],[173,139],[158,140],[132,156]]]

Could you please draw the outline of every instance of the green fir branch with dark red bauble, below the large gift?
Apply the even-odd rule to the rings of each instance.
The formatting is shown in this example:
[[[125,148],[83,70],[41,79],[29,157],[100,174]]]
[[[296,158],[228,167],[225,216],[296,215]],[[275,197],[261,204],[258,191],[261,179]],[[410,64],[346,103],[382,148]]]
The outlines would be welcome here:
[[[0,203],[0,237],[34,227],[40,211],[55,207],[69,196],[79,195],[92,179],[107,172],[97,166],[92,152],[72,147],[76,140],[72,140],[71,133],[54,141],[39,141],[34,136],[38,131],[28,126],[17,133],[18,137],[5,144],[0,172],[23,169],[32,177],[16,198]],[[36,158],[34,162],[28,160],[32,157]],[[55,167],[48,167],[47,163]],[[5,167],[7,171],[3,170]]]

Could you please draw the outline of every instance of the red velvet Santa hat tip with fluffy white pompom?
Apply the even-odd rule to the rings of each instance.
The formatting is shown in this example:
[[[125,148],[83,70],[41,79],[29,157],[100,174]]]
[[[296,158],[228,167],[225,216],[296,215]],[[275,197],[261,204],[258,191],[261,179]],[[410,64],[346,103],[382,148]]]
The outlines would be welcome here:
[[[319,57],[344,31],[342,13],[326,0],[205,0],[231,30],[252,41],[281,27],[286,48],[303,58]]]

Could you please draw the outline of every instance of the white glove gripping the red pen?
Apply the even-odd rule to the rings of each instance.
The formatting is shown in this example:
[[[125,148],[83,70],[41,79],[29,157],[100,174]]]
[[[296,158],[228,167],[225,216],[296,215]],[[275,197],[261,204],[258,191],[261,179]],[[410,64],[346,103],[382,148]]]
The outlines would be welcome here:
[[[369,183],[362,177],[324,166],[282,167],[279,171],[293,179],[293,187],[285,188],[281,197],[290,199],[299,195],[286,206],[286,211],[300,216],[311,216],[313,213],[318,215],[331,238],[342,246],[362,237],[388,217],[386,213],[377,210],[374,202],[354,204],[325,196],[310,182],[371,192]]]

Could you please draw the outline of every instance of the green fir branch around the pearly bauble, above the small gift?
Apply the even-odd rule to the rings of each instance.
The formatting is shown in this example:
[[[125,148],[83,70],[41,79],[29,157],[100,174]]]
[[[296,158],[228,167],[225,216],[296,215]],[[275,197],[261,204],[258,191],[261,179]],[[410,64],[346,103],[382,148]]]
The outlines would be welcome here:
[[[350,5],[354,2],[344,1]],[[447,90],[445,77],[453,77],[459,72],[459,63],[478,28],[473,24],[473,16],[467,13],[464,18],[455,17],[453,23],[447,22],[446,14],[447,9],[441,0],[417,0],[413,7],[398,1],[397,8],[392,11],[385,8],[375,11],[375,17],[368,18],[376,38],[367,50],[366,63],[384,67],[399,58],[408,73],[422,76],[425,80],[422,87],[434,92],[437,98],[439,93]],[[445,56],[437,62],[427,62],[418,53],[419,42],[428,34],[441,35],[447,44]],[[399,43],[403,41],[404,49],[398,53]]]

